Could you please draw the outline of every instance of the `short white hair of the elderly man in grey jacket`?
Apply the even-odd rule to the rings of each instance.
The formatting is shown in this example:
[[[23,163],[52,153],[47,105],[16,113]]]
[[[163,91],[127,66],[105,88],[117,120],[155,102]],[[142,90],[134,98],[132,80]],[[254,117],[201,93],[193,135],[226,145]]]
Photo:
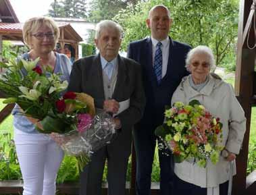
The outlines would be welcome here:
[[[122,32],[123,32],[122,26],[120,26],[118,23],[113,22],[111,20],[102,20],[96,25],[95,38],[98,39],[101,36],[101,31],[106,28],[115,29],[118,32],[120,38],[122,38]]]

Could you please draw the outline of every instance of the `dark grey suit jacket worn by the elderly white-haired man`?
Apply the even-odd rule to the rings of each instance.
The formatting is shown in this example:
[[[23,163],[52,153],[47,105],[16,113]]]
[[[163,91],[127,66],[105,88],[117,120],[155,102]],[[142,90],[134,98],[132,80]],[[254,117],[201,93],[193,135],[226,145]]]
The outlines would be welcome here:
[[[91,55],[74,62],[68,90],[93,96],[95,107],[103,108],[105,94],[100,55]],[[118,102],[130,99],[130,107],[117,117],[121,120],[122,130],[131,132],[134,123],[143,116],[145,107],[140,65],[132,59],[118,55],[118,79],[112,99]]]

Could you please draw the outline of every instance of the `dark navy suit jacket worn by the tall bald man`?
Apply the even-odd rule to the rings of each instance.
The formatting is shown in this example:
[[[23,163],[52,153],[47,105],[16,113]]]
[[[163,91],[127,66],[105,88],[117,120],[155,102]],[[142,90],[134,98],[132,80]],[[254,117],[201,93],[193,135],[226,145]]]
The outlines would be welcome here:
[[[157,85],[157,78],[153,70],[153,55],[151,38],[145,38],[130,43],[128,57],[134,59],[143,69],[143,85],[147,104],[143,119],[138,128],[155,128],[163,123],[165,105],[171,105],[172,94],[180,84],[182,77],[188,75],[185,66],[189,45],[179,43],[170,38],[170,53],[168,68],[161,84]]]

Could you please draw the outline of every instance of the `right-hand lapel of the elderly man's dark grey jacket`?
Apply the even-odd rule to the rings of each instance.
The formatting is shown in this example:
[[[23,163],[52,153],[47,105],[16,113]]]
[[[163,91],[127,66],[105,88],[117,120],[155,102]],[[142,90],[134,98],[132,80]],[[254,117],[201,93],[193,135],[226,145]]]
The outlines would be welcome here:
[[[116,87],[113,91],[112,98],[118,99],[118,94],[122,94],[122,91],[124,90],[123,86],[124,82],[126,81],[127,77],[127,67],[126,63],[124,63],[124,59],[118,55],[118,78],[116,80]]]

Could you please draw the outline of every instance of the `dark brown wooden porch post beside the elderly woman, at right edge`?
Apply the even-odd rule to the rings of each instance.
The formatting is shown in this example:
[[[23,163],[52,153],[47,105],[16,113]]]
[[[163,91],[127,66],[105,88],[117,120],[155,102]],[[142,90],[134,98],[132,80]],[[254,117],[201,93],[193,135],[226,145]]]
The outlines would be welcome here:
[[[255,0],[254,0],[255,1]],[[240,0],[240,13],[238,24],[238,45],[236,56],[236,81],[235,92],[238,100],[245,110],[247,118],[247,130],[242,144],[242,150],[236,160],[237,174],[233,181],[232,194],[245,194],[246,177],[247,177],[247,160],[249,148],[249,133],[251,124],[251,106],[253,102],[253,74],[255,66],[255,49],[249,49],[247,45],[247,37],[249,45],[255,45],[255,37],[253,32],[253,24],[251,32],[248,34],[247,20],[251,9],[255,9],[252,0]],[[250,20],[250,19],[249,19]],[[249,21],[253,22],[253,20]],[[255,22],[255,21],[254,21]]]

